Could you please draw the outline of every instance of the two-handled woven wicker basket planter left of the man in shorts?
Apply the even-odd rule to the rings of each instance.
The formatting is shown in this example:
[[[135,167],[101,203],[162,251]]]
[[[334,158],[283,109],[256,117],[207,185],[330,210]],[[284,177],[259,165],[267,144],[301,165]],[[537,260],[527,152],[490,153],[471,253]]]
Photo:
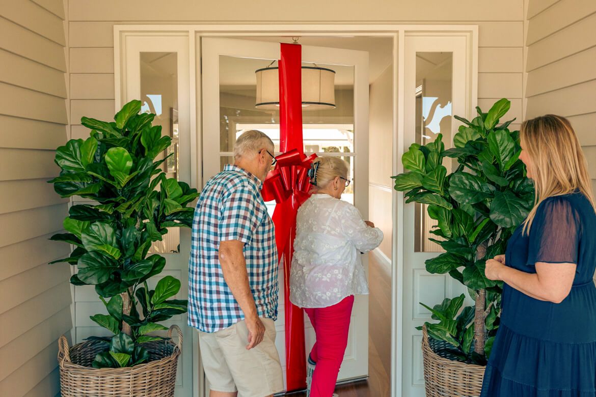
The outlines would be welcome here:
[[[63,397],[172,397],[176,383],[182,332],[170,327],[167,335],[178,334],[178,344],[157,340],[143,345],[149,351],[146,364],[125,368],[93,368],[95,355],[105,350],[105,342],[89,340],[69,349],[66,337],[58,340],[60,393]]]

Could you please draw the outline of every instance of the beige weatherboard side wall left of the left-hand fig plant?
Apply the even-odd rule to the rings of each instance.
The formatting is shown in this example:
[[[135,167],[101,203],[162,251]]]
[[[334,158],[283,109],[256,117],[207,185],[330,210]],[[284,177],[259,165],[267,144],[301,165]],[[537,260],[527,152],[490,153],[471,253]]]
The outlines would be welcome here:
[[[67,200],[48,179],[66,142],[62,0],[0,0],[0,395],[54,396],[58,337],[72,327],[69,254],[48,238]]]

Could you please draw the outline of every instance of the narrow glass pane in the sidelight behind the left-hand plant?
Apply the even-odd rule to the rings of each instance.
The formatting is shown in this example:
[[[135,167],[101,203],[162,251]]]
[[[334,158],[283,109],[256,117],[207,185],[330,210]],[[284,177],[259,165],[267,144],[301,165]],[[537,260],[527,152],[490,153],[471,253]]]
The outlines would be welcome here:
[[[178,54],[176,52],[141,52],[141,112],[154,113],[153,125],[162,127],[162,135],[172,139],[172,145],[157,155],[167,160],[162,170],[168,178],[178,179]],[[167,229],[163,241],[156,241],[149,252],[167,254],[179,252],[180,229]]]

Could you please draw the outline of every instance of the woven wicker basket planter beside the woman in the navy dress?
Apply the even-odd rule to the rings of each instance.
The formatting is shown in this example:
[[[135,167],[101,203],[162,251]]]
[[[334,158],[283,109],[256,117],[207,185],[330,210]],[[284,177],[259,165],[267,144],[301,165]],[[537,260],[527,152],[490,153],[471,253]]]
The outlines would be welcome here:
[[[435,351],[439,351],[443,345],[446,345],[446,342],[429,340],[426,327],[423,327],[422,355],[426,396],[479,396],[485,367],[449,360],[451,357],[448,355],[436,354]]]

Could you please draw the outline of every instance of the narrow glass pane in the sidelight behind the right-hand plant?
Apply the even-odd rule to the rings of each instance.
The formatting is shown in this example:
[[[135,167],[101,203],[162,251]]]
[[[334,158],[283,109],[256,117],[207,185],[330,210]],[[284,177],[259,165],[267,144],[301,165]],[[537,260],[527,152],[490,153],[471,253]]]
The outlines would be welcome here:
[[[443,135],[445,148],[452,142],[452,52],[417,52],[416,54],[416,124],[415,140],[420,145],[433,142]],[[443,165],[451,171],[451,159]],[[428,205],[415,204],[415,251],[440,252],[442,248],[429,240],[440,239],[430,233],[436,221],[429,217]]]

